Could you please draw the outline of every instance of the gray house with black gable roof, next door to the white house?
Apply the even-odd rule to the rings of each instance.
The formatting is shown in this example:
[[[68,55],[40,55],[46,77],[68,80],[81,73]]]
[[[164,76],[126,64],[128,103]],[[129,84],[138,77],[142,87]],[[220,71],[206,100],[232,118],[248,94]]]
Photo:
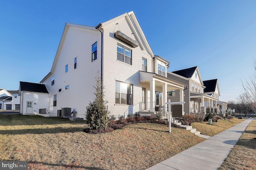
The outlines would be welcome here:
[[[202,102],[204,101],[205,86],[197,66],[178,71],[168,71],[167,77],[188,85],[188,87],[184,89],[185,114],[205,113],[204,102]],[[179,94],[180,90],[169,92],[168,99],[170,99],[171,102],[180,101]]]

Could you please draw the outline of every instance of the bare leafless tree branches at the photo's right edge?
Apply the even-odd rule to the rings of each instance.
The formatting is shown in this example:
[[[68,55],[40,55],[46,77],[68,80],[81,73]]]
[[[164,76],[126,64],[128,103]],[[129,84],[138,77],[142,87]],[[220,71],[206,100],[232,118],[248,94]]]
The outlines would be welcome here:
[[[254,73],[250,75],[250,79],[245,82],[242,82],[242,87],[244,89],[244,93],[248,95],[248,101],[250,107],[256,111],[256,60],[253,59],[254,63]]]

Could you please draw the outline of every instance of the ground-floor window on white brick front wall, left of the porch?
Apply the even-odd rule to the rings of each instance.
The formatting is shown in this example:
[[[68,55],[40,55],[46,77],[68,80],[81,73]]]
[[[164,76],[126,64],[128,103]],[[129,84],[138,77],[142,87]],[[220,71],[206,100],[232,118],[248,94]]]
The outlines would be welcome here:
[[[116,81],[116,103],[132,105],[132,85]]]

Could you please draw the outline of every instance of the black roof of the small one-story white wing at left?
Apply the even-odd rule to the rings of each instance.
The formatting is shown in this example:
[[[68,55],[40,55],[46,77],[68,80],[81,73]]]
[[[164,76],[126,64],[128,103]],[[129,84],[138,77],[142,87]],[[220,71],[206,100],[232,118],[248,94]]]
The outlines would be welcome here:
[[[31,91],[31,92],[38,92],[38,93],[49,93],[46,89],[46,86],[39,83],[30,83],[20,81],[20,91]]]

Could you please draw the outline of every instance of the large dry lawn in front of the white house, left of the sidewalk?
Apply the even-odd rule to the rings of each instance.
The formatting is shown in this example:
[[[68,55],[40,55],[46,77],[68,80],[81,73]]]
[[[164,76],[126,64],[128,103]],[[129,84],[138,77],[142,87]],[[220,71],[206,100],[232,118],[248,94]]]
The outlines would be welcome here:
[[[13,119],[0,115],[0,160],[29,161],[29,169],[143,170],[205,140],[154,123],[87,134],[83,121],[18,115],[16,125]]]

